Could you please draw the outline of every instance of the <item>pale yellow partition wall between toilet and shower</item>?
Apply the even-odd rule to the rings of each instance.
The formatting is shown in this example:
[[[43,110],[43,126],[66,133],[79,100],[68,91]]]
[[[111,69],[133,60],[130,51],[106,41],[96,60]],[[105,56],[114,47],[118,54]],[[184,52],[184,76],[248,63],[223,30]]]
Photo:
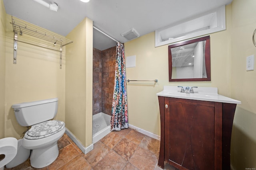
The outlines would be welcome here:
[[[85,18],[68,35],[66,127],[85,146],[92,144],[92,21]]]

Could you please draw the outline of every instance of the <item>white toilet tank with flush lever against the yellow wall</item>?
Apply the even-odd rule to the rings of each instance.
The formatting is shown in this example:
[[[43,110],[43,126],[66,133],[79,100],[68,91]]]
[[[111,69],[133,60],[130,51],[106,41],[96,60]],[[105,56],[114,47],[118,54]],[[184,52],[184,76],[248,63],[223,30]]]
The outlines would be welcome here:
[[[12,105],[21,126],[31,126],[53,119],[58,110],[58,98]]]

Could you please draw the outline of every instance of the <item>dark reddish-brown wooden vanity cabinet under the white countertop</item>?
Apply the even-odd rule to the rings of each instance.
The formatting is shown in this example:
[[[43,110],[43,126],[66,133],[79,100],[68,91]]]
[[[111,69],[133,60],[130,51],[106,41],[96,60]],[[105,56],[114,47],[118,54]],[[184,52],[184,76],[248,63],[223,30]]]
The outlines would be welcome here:
[[[158,96],[161,142],[158,166],[229,170],[236,104]]]

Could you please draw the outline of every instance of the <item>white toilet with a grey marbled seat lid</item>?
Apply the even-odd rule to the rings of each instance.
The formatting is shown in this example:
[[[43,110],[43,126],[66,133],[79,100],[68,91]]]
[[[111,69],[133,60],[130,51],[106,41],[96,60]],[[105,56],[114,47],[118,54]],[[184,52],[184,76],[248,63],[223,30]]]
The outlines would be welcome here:
[[[22,139],[22,147],[32,150],[30,164],[34,168],[50,165],[58,157],[57,141],[65,133],[63,121],[51,120],[58,110],[58,98],[12,105],[21,126],[31,126]]]

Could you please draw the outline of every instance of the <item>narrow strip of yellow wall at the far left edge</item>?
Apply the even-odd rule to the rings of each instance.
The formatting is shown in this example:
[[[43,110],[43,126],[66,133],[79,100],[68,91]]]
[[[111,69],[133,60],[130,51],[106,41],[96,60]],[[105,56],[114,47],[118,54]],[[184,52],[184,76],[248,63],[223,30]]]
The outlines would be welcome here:
[[[5,25],[6,12],[0,1],[0,139],[4,137]]]

